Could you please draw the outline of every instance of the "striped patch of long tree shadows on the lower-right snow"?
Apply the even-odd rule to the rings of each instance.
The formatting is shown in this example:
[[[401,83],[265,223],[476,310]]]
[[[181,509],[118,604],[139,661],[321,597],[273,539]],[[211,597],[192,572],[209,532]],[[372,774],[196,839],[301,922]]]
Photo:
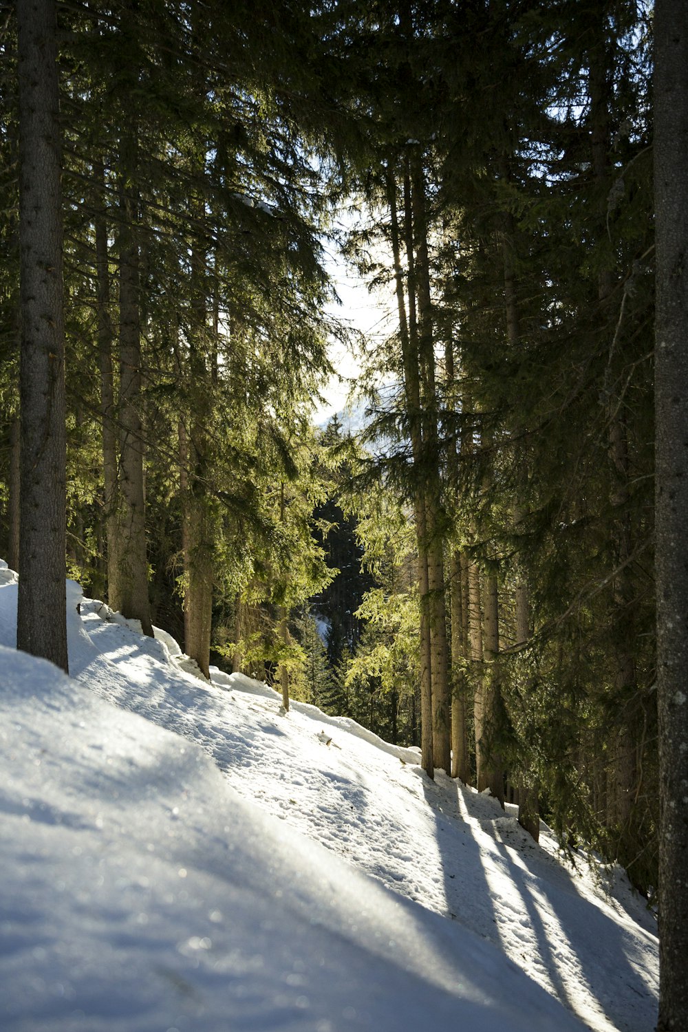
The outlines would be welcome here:
[[[452,917],[499,945],[582,1021],[649,1028],[656,998],[646,980],[650,937],[624,929],[496,800],[444,772],[422,774]],[[493,934],[486,929],[493,927]],[[533,957],[533,954],[535,955]]]

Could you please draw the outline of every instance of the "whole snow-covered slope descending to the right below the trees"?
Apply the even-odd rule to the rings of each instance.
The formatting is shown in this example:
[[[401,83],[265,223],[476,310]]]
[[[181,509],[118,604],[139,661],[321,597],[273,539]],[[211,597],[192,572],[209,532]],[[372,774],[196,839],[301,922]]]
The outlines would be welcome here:
[[[3,1032],[654,1027],[621,872],[417,750],[193,676],[72,582],[66,678],[15,651],[15,605],[3,566]]]

